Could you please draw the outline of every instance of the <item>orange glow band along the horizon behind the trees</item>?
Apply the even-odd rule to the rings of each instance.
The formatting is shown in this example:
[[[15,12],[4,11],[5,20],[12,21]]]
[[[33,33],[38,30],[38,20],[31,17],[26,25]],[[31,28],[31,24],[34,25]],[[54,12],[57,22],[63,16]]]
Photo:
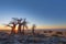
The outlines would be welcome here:
[[[32,29],[32,26],[29,26],[29,29]],[[36,29],[66,29],[66,26],[45,26],[45,25],[38,25]],[[0,30],[11,30],[9,26],[0,25]],[[18,30],[18,26],[15,28]]]

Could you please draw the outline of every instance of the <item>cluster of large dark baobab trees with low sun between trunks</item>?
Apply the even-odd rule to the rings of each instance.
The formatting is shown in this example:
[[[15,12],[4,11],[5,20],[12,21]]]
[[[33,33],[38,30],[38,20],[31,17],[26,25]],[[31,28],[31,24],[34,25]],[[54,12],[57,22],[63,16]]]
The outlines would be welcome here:
[[[12,28],[11,33],[15,33],[15,26],[18,26],[18,34],[21,34],[23,32],[24,34],[24,28],[28,29],[28,22],[25,21],[26,19],[18,19],[18,18],[12,18],[12,21],[9,24],[6,24],[7,26]],[[21,26],[23,26],[23,31],[21,32]]]

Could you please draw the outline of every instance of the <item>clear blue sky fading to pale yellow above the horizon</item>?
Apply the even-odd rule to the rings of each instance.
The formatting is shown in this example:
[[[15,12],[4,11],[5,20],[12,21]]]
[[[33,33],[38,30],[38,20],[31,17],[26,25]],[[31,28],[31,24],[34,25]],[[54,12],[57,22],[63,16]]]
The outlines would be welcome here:
[[[0,26],[11,18],[26,18],[41,29],[65,29],[66,0],[0,0]]]

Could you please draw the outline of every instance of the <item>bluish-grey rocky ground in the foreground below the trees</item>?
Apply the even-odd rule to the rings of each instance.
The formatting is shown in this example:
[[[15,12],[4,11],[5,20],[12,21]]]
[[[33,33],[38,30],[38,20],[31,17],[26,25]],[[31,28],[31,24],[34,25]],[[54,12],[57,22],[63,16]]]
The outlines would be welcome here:
[[[9,35],[0,32],[0,44],[66,44],[66,37],[36,35]]]

